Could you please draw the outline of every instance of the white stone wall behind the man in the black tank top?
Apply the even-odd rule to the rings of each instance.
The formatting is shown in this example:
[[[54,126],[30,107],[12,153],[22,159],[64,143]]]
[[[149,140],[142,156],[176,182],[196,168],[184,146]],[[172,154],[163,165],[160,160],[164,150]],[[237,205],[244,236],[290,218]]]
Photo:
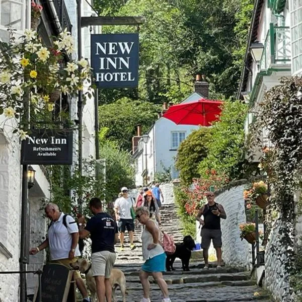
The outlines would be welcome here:
[[[215,202],[220,203],[226,213],[221,219],[222,259],[226,265],[249,267],[250,244],[240,239],[239,224],[246,222],[243,191],[245,185],[234,186],[215,192]],[[197,241],[200,242],[199,223],[196,224]],[[214,252],[210,247],[209,255]]]

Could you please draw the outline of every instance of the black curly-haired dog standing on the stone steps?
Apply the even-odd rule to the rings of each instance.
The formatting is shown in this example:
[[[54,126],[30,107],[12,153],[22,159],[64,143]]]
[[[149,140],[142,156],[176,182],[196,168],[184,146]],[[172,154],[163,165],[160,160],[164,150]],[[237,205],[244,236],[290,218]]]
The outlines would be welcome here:
[[[175,270],[173,263],[175,258],[179,258],[182,263],[182,269],[184,271],[189,271],[189,262],[191,258],[192,250],[195,248],[195,242],[191,236],[185,236],[183,243],[177,243],[174,254],[167,254],[166,259],[166,269],[168,272]]]

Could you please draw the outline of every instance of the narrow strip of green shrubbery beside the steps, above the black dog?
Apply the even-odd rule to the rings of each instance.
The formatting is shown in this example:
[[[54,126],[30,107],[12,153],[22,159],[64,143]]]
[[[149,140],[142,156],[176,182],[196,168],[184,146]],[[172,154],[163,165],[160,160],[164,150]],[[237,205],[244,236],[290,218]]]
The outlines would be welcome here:
[[[181,219],[182,230],[184,235],[191,235],[196,237],[196,220],[195,217],[186,212],[185,204],[188,201],[188,195],[181,189],[181,187],[174,188],[175,203],[178,207],[178,214]]]

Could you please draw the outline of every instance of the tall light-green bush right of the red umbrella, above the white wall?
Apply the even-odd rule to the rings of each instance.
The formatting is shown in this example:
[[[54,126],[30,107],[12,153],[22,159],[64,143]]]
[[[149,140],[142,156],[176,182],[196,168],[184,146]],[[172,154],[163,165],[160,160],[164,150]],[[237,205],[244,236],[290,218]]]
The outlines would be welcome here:
[[[215,170],[230,180],[242,178],[244,164],[244,121],[247,106],[239,101],[225,101],[218,121],[213,124],[208,153],[199,164],[201,177]]]

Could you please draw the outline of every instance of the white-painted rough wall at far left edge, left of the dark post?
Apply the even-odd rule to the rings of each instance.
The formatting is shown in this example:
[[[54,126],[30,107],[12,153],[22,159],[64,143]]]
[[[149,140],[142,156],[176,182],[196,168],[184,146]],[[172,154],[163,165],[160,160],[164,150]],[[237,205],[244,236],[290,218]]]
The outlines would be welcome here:
[[[0,134],[0,141],[3,135]],[[20,150],[0,142],[0,271],[19,271],[20,257]],[[0,275],[0,299],[19,301],[19,275]]]

